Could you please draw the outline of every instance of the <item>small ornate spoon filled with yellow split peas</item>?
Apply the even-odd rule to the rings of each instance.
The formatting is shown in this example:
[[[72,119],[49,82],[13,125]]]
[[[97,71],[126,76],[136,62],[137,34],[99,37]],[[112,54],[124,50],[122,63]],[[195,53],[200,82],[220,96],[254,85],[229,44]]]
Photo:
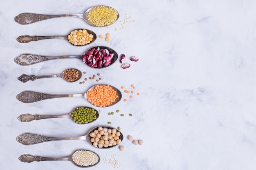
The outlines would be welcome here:
[[[75,29],[68,35],[52,35],[52,36],[29,36],[21,35],[16,40],[20,43],[28,43],[31,41],[45,40],[51,38],[60,38],[67,40],[73,46],[86,46],[94,42],[97,38],[96,33],[88,29]]]

